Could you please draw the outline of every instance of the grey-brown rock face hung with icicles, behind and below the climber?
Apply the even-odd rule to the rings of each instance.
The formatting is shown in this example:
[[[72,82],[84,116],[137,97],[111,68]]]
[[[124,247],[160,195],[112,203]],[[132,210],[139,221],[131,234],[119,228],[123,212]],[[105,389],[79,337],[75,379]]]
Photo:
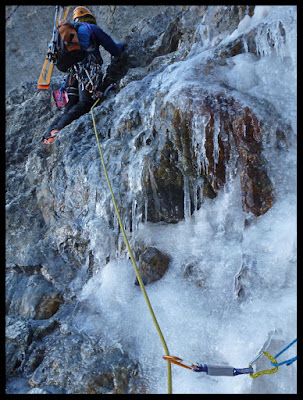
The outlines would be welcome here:
[[[32,50],[43,54],[52,7],[26,9],[24,29],[31,27]],[[233,68],[231,57],[260,57],[257,28],[224,41],[254,15],[254,6],[92,9],[100,25],[128,43],[116,61],[119,85],[94,114],[131,243],[139,224],[177,224],[236,177],[247,221],[264,215],[275,203],[264,144],[282,153],[292,128],[266,99],[260,103],[223,79]],[[7,22],[6,35],[7,88],[13,88],[6,97],[7,378],[26,378],[30,393],[148,393],[141,366],[127,351],[103,348],[72,323],[77,307],[85,307],[78,297],[83,285],[126,252],[91,115],[65,127],[53,146],[40,144],[60,111],[50,92],[36,89],[43,58],[29,79],[17,81],[19,66],[30,69],[30,58],[14,47],[22,10]],[[45,23],[45,37],[37,35],[32,18]],[[209,48],[207,57],[200,56],[201,46]],[[60,84],[55,73],[51,90]],[[155,282],[172,255],[151,243],[143,248],[144,282]],[[239,297],[249,292],[245,271],[236,277]],[[195,266],[184,274],[195,279]],[[203,287],[204,277],[198,278]]]

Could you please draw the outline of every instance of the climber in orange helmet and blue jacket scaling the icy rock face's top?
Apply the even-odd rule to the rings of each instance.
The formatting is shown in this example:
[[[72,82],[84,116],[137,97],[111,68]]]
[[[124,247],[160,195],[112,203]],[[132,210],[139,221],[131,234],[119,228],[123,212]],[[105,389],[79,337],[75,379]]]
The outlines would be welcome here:
[[[100,45],[112,56],[111,65],[108,67],[107,74],[103,81],[102,74],[98,76],[100,92],[104,93],[106,88],[111,83],[114,83],[116,77],[119,76],[119,71],[117,71],[115,67],[115,65],[119,65],[119,63],[115,63],[115,61],[122,53],[126,44],[115,43],[109,35],[97,26],[94,14],[87,7],[76,7],[73,11],[73,21],[76,25],[79,25],[77,30],[79,43],[81,48],[87,51],[88,56],[92,54],[93,57],[91,58],[99,65],[102,65],[103,60],[99,51]],[[86,59],[83,60],[83,62],[84,61],[86,61]],[[42,142],[44,144],[52,144],[61,129],[81,115],[86,114],[95,102],[92,93],[81,84],[75,66],[72,66],[68,71],[66,92],[69,99],[68,103],[65,105],[63,113],[60,113],[52,122],[48,132],[43,136]]]

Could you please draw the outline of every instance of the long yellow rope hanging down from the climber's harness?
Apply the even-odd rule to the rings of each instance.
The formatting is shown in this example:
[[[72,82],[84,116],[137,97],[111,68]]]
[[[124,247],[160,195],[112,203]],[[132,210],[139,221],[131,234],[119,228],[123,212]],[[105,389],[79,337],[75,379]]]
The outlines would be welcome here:
[[[159,334],[159,336],[160,336],[162,345],[163,345],[163,347],[164,347],[165,354],[166,354],[167,356],[169,356],[169,351],[168,351],[168,348],[167,348],[167,345],[166,345],[164,336],[163,336],[163,334],[162,334],[162,332],[161,332],[160,326],[159,326],[159,324],[158,324],[158,321],[157,321],[157,319],[156,319],[156,316],[155,316],[154,311],[153,311],[153,309],[152,309],[152,306],[151,306],[151,304],[150,304],[149,298],[148,298],[148,296],[147,296],[147,293],[146,293],[146,290],[145,290],[145,287],[144,287],[142,278],[141,278],[141,276],[140,276],[140,273],[139,273],[139,270],[138,270],[138,267],[137,267],[137,264],[136,264],[136,260],[135,260],[135,258],[134,258],[133,252],[132,252],[132,250],[131,250],[131,248],[130,248],[130,245],[129,245],[129,242],[128,242],[128,239],[127,239],[127,236],[126,236],[124,227],[123,227],[123,223],[122,223],[122,220],[121,220],[121,217],[120,217],[120,213],[119,213],[119,210],[118,210],[118,207],[117,207],[117,203],[116,203],[116,200],[115,200],[115,196],[114,196],[114,193],[113,193],[111,184],[110,184],[110,180],[109,180],[109,178],[108,178],[107,169],[106,169],[105,161],[104,161],[103,154],[102,154],[102,150],[101,150],[101,146],[100,146],[100,142],[99,142],[99,138],[98,138],[98,134],[97,134],[96,123],[95,123],[95,119],[94,119],[94,113],[93,113],[93,109],[94,109],[94,107],[97,105],[98,101],[99,101],[99,99],[98,99],[98,100],[94,103],[94,105],[92,106],[92,108],[91,108],[91,114],[92,114],[92,120],[93,120],[95,135],[96,135],[96,139],[97,139],[97,143],[98,143],[99,153],[100,153],[100,157],[101,157],[101,161],[102,161],[102,165],[103,165],[105,177],[106,177],[106,180],[107,180],[107,185],[108,185],[110,194],[111,194],[111,196],[112,196],[112,200],[113,200],[113,204],[114,204],[115,211],[116,211],[116,214],[117,214],[117,218],[118,218],[118,221],[119,221],[119,225],[120,225],[120,228],[121,228],[121,231],[122,231],[122,234],[123,234],[123,237],[124,237],[124,241],[125,241],[125,244],[126,244],[126,246],[127,246],[127,249],[128,249],[129,255],[130,255],[130,258],[131,258],[131,260],[132,260],[132,263],[133,263],[133,266],[134,266],[134,269],[135,269],[135,272],[136,272],[136,275],[137,275],[137,279],[138,279],[138,281],[139,281],[139,284],[140,284],[142,293],[143,293],[143,295],[144,295],[145,301],[146,301],[146,303],[147,303],[147,306],[148,306],[149,312],[150,312],[150,314],[151,314],[151,317],[152,317],[152,319],[153,319],[153,321],[154,321],[154,324],[155,324],[155,327],[156,327],[156,329],[157,329],[157,332],[158,332],[158,334]],[[168,394],[172,394],[171,363],[170,363],[170,361],[168,361],[168,360],[167,360],[167,380],[168,380],[168,382],[167,382],[167,383],[168,383]]]

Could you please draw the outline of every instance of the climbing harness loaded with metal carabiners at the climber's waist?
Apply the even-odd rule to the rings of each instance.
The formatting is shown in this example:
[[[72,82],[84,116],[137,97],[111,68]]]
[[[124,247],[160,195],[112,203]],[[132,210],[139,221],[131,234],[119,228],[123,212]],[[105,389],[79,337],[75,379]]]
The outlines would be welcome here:
[[[102,96],[103,93],[99,90],[102,82],[102,65],[98,63],[93,54],[89,54],[83,61],[74,64],[71,71],[73,71],[81,89],[89,91],[93,99]]]

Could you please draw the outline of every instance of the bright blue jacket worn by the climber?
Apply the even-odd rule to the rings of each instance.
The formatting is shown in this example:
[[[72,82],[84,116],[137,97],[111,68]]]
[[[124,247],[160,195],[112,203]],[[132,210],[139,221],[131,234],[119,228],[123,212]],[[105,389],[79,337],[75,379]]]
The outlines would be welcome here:
[[[96,56],[100,64],[102,64],[102,57],[99,51],[100,45],[114,57],[122,52],[123,43],[115,43],[99,26],[81,22],[76,22],[75,24],[80,25],[78,28],[78,39],[82,49]],[[93,31],[93,35],[86,25],[89,25]]]

